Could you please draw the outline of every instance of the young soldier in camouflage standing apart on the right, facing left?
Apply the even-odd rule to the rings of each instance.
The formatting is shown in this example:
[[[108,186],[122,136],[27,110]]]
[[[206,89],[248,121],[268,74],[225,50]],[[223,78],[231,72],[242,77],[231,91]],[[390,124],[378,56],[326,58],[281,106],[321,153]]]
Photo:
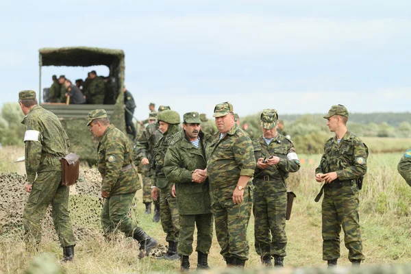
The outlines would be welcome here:
[[[348,110],[344,105],[333,105],[327,115],[327,126],[336,136],[325,142],[324,154],[315,171],[317,182],[324,182],[316,197],[324,192],[323,260],[336,266],[340,257],[340,232],[344,230],[345,247],[353,265],[364,260],[358,217],[358,188],[366,173],[368,148],[355,134],[347,131]]]

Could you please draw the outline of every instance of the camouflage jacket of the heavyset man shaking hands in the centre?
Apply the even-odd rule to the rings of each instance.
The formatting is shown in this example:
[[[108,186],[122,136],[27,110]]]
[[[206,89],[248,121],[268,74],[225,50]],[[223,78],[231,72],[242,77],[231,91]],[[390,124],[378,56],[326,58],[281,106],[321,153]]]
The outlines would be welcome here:
[[[220,132],[207,151],[207,172],[212,188],[229,188],[238,183],[240,176],[253,177],[256,169],[253,143],[237,124],[221,140]]]

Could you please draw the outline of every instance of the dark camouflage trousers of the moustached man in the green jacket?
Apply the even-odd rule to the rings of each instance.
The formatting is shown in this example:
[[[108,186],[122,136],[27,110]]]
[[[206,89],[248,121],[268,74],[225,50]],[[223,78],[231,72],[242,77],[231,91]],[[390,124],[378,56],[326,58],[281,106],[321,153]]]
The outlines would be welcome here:
[[[197,247],[195,251],[208,254],[212,242],[212,214],[180,215],[177,253],[190,256],[194,227],[197,227]]]

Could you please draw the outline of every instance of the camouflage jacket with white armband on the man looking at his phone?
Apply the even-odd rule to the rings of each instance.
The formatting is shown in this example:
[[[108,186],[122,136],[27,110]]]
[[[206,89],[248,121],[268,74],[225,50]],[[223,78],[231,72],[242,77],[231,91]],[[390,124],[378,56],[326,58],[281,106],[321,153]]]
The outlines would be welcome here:
[[[295,153],[292,141],[281,134],[277,134],[267,146],[262,136],[253,140],[254,155],[256,162],[259,158],[268,159],[271,155],[279,157],[279,163],[273,166],[267,166],[266,169],[256,168],[254,178],[263,179],[268,175],[270,180],[286,179],[288,173],[297,172],[301,166],[297,153]]]

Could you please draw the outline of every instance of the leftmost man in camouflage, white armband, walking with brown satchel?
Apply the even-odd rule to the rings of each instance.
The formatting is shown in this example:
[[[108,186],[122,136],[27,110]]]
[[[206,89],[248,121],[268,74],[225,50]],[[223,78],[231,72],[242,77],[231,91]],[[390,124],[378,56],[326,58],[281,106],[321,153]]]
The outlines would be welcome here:
[[[18,93],[25,114],[25,190],[30,192],[23,212],[26,248],[34,251],[41,240],[41,220],[51,203],[53,223],[63,248],[63,261],[73,260],[75,239],[69,214],[69,188],[62,186],[60,159],[70,146],[60,120],[37,104],[36,92]]]

